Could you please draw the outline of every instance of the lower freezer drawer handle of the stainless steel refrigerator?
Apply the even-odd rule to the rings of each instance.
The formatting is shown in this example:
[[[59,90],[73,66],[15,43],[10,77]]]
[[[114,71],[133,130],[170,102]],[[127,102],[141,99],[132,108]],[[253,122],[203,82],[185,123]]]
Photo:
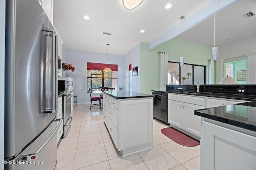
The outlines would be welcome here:
[[[55,121],[60,121],[56,127],[56,129],[53,131],[52,135],[50,135],[50,137],[45,141],[45,143],[36,151],[36,153],[34,154],[29,154],[27,156],[24,156],[23,157],[23,160],[35,160],[37,158],[37,156],[40,154],[40,152],[44,149],[44,147],[46,147],[46,145],[51,141],[52,137],[54,137],[54,135],[57,133],[60,125],[61,125],[61,122],[62,122],[62,119],[56,119]],[[54,121],[53,121],[54,122]],[[53,123],[52,122],[52,123]]]

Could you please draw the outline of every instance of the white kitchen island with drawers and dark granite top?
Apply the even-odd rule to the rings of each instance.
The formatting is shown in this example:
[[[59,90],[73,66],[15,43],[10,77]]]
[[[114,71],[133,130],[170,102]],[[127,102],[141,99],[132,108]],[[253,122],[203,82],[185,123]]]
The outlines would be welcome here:
[[[153,148],[153,95],[103,92],[103,119],[112,141],[128,156]]]

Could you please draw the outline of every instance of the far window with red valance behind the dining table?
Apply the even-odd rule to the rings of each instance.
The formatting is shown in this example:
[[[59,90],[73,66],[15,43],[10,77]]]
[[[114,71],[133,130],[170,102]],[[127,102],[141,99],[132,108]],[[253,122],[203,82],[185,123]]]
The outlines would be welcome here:
[[[99,90],[100,87],[114,87],[117,90],[117,65],[108,64],[113,73],[104,73],[102,70],[106,68],[106,65],[87,63],[87,92],[89,92],[89,88]],[[114,67],[111,67],[111,65],[114,65]]]

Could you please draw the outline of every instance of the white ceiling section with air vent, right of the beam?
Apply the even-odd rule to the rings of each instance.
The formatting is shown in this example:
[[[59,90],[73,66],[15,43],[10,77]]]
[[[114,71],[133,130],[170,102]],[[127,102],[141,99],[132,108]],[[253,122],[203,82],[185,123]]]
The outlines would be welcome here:
[[[244,37],[256,35],[256,0],[241,0],[215,16],[215,45],[219,46]],[[181,39],[181,35],[177,38]],[[231,39],[227,41],[227,39]],[[183,40],[214,47],[214,19],[209,18],[183,33]]]

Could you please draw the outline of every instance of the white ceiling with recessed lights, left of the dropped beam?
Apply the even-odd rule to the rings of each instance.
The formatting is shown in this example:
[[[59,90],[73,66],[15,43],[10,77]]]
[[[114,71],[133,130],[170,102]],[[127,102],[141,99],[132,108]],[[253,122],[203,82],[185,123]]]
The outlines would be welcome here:
[[[68,49],[125,55],[149,43],[212,0],[144,0],[127,10],[122,0],[54,0],[54,26]],[[165,9],[167,3],[172,8]],[[83,16],[90,20],[84,20]],[[255,27],[254,27],[255,28]],[[145,33],[140,33],[145,29]],[[104,35],[102,32],[112,35]]]

